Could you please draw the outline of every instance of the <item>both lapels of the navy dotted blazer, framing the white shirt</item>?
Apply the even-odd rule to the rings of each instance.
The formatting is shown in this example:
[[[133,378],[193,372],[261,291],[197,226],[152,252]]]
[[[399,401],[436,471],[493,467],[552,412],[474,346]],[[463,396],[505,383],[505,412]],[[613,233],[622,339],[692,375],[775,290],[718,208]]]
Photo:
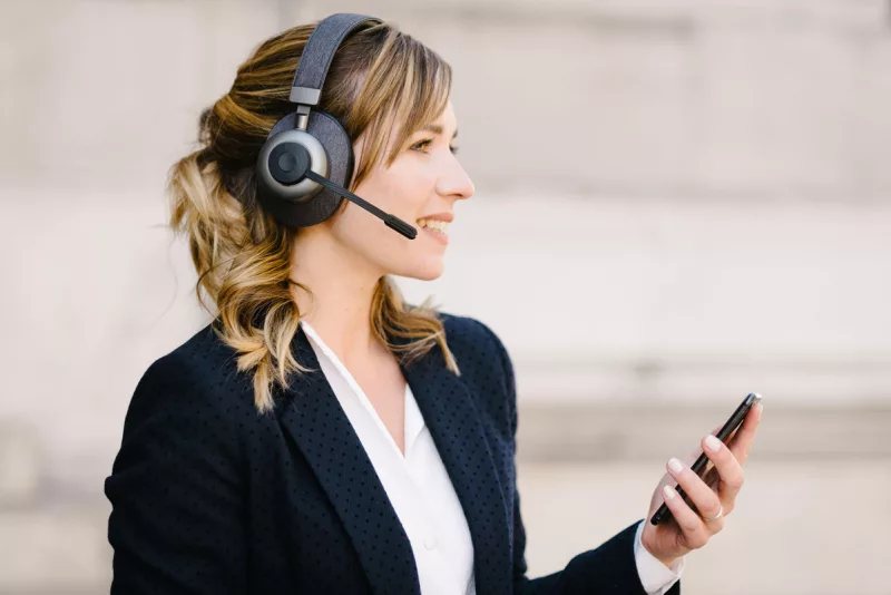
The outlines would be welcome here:
[[[401,342],[391,336],[391,341]],[[302,325],[292,343],[301,364],[313,371],[295,374],[276,411],[296,442],[353,542],[375,594],[420,595],[418,569],[408,535],[383,485],[340,406]],[[442,462],[461,501],[473,543],[478,593],[509,593],[508,506],[479,412],[468,386],[446,369],[439,348],[405,365],[402,374],[430,429]],[[354,470],[353,470],[354,469]],[[362,485],[358,497],[351,485]],[[371,510],[369,510],[371,509]],[[394,535],[385,549],[366,534],[366,519],[381,523],[381,535]]]

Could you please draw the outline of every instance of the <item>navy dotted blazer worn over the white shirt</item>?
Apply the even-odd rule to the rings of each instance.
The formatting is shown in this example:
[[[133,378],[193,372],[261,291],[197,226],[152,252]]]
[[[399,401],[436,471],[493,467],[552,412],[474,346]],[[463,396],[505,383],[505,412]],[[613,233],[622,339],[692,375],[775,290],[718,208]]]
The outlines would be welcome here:
[[[640,520],[526,576],[513,368],[486,324],[440,316],[462,375],[439,348],[402,373],[470,526],[477,593],[645,595]],[[209,324],[141,377],[105,480],[112,594],[420,594],[408,536],[302,328],[292,349],[315,371],[263,416]]]

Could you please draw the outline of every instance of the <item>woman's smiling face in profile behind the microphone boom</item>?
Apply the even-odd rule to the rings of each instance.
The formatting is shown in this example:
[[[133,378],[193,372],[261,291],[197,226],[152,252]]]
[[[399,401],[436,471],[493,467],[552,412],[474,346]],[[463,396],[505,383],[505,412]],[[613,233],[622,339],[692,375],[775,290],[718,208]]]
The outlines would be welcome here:
[[[420,280],[433,280],[442,274],[448,224],[444,224],[444,233],[439,233],[422,227],[420,220],[429,215],[428,221],[450,221],[456,202],[473,195],[473,183],[453,153],[457,131],[449,101],[435,121],[409,137],[390,167],[376,165],[353,189],[383,212],[414,226],[418,230],[414,240],[391,230],[380,218],[345,199],[326,222],[335,237],[366,260],[375,274]],[[353,147],[356,162],[362,142],[360,137]]]

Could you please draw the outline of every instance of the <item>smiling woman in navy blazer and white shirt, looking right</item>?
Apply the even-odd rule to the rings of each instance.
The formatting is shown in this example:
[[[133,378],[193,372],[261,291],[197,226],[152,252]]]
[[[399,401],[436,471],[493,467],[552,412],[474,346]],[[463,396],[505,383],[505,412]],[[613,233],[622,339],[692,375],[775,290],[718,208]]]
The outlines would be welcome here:
[[[486,324],[405,304],[390,279],[442,273],[448,222],[473,194],[449,66],[373,20],[334,46],[317,106],[352,142],[350,188],[418,237],[347,201],[288,226],[258,198],[255,165],[294,109],[314,29],[263,42],[172,168],[172,225],[217,315],[133,396],[105,484],[111,592],[678,593],[684,555],[733,510],[760,408],[732,448],[703,441],[714,488],[669,466],[647,518],[667,497],[676,520],[638,519],[527,577],[511,360]]]

